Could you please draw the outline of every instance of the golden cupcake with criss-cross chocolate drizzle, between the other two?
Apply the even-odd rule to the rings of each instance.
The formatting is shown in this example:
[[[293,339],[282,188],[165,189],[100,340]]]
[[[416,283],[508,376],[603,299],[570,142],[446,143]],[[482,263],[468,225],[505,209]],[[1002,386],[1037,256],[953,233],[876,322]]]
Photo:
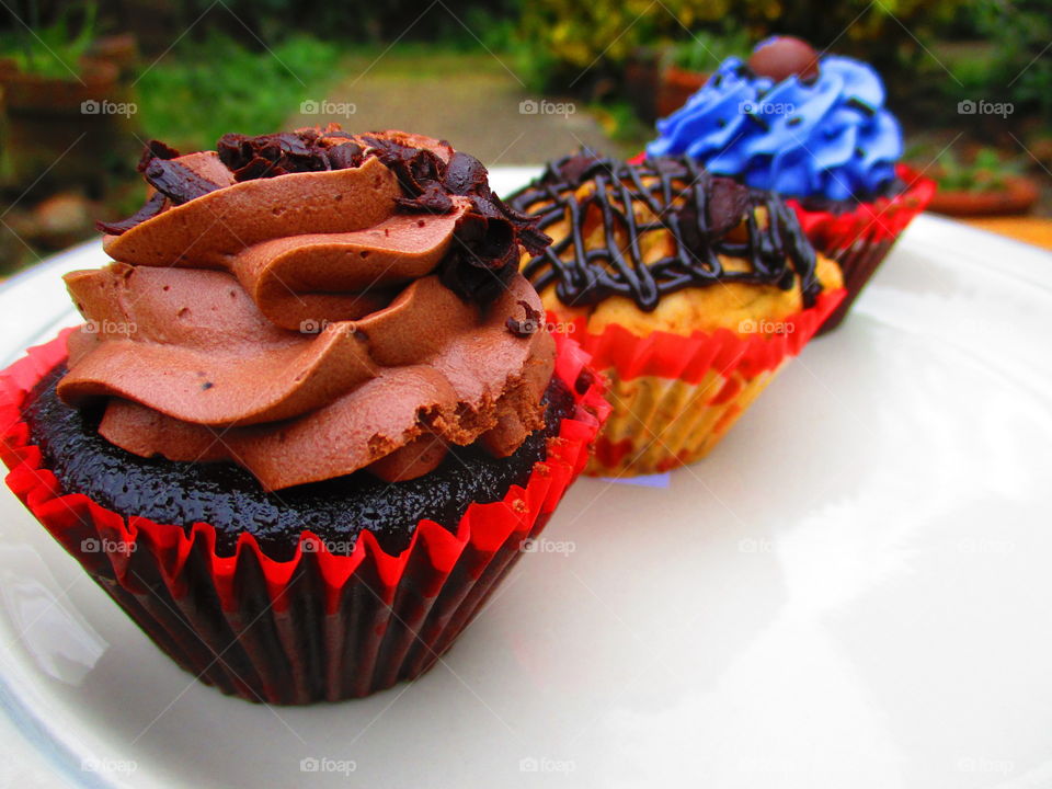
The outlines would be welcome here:
[[[705,456],[844,297],[776,195],[689,158],[581,152],[508,204],[553,239],[523,274],[610,380],[593,474]]]

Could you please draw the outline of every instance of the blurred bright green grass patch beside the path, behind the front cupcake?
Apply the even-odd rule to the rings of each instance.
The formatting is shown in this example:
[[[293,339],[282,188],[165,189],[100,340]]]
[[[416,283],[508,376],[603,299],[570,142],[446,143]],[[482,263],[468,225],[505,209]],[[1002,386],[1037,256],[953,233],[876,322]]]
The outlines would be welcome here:
[[[148,137],[181,150],[213,148],[227,132],[277,132],[300,102],[325,98],[343,59],[340,45],[307,35],[260,50],[210,35],[144,69],[138,121]]]

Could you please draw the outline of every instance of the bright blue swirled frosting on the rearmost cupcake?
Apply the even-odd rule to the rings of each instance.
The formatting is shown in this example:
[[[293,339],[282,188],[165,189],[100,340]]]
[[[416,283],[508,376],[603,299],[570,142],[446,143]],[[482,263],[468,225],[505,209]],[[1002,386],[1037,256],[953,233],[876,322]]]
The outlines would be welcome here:
[[[647,153],[686,155],[710,172],[788,196],[882,194],[895,181],[903,146],[880,77],[838,56],[822,57],[816,76],[757,73],[757,61],[767,59],[761,54],[782,41],[761,43],[748,64],[724,60],[686,105],[658,122]]]

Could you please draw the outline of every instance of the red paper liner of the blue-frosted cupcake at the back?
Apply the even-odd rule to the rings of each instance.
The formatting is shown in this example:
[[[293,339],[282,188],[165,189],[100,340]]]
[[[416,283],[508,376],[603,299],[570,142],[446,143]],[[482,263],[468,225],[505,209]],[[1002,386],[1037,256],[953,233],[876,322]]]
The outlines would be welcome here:
[[[832,331],[841,324],[862,287],[883,262],[906,226],[925,209],[935,195],[935,182],[905,164],[895,173],[906,188],[893,197],[860,203],[844,214],[808,210],[788,199],[815,250],[841,266],[847,297],[820,330]]]

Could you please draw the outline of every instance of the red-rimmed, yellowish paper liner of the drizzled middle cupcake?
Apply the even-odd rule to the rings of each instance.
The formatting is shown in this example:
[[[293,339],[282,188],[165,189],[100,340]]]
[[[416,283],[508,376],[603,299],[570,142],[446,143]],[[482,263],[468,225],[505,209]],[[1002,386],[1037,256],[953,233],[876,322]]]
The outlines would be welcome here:
[[[573,336],[609,378],[613,407],[585,473],[660,473],[704,457],[844,295],[843,288],[821,294],[774,333],[761,322],[747,335],[721,329],[639,336],[617,324],[592,334],[578,319]]]

